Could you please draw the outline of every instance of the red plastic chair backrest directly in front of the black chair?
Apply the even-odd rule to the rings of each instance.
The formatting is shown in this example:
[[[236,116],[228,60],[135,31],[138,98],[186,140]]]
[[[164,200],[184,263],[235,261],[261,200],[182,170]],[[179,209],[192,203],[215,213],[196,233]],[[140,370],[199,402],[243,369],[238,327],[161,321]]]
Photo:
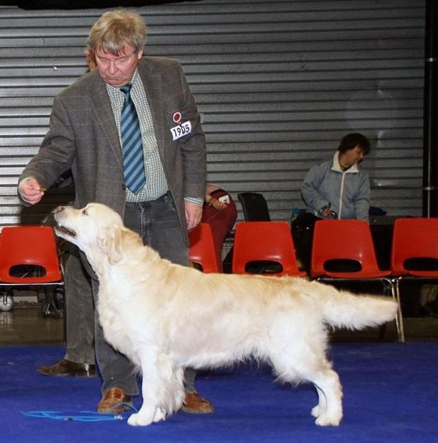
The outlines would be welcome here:
[[[233,273],[251,274],[250,262],[276,262],[282,270],[269,275],[304,277],[296,264],[294,240],[290,227],[283,221],[237,223],[233,246]]]

